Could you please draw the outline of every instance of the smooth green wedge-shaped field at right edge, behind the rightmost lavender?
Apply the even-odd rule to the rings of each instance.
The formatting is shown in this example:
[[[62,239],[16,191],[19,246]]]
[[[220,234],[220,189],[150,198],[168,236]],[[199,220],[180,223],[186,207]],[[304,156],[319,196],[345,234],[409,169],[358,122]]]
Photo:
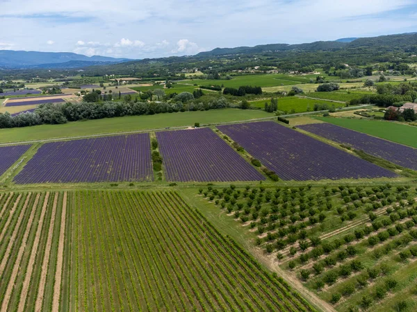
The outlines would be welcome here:
[[[341,127],[356,130],[380,137],[389,141],[417,148],[417,127],[394,123],[390,121],[376,121],[366,119],[345,119],[317,117],[321,121],[340,125]]]

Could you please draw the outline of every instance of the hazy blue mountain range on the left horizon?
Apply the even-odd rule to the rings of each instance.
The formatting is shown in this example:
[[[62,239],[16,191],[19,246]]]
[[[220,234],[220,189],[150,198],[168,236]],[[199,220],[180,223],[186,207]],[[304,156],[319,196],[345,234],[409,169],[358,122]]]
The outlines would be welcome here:
[[[115,64],[127,58],[86,56],[70,52],[36,52],[0,50],[0,67],[5,68],[76,68],[97,64]]]

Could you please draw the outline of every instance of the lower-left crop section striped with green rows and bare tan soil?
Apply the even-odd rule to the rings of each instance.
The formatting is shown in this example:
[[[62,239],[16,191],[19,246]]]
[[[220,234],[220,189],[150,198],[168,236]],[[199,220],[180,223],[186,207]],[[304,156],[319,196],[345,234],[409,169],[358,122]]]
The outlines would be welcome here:
[[[63,192],[0,193],[1,311],[57,311],[69,260],[66,204]]]

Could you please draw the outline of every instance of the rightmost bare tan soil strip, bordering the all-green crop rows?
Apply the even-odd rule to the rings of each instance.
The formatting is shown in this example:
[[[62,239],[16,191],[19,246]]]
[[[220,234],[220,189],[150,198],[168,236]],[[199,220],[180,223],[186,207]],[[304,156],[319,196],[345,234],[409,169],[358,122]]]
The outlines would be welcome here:
[[[61,214],[61,227],[58,242],[58,259],[56,261],[54,298],[52,300],[52,311],[59,310],[60,286],[63,272],[64,242],[65,242],[65,217],[67,216],[67,192],[64,193],[63,211]]]

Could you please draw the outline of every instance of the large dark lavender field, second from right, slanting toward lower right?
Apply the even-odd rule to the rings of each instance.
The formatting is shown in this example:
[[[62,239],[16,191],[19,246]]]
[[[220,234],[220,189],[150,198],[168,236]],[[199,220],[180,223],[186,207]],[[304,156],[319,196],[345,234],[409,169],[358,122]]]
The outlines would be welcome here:
[[[218,128],[283,180],[397,176],[273,121],[220,125]]]

